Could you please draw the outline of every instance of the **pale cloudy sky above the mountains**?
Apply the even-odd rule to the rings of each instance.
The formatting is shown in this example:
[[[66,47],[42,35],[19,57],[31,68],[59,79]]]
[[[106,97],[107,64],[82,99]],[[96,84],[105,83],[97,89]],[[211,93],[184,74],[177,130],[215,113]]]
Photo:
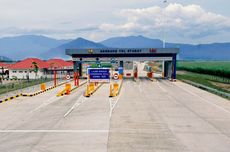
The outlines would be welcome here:
[[[230,42],[229,0],[0,0],[0,37]]]

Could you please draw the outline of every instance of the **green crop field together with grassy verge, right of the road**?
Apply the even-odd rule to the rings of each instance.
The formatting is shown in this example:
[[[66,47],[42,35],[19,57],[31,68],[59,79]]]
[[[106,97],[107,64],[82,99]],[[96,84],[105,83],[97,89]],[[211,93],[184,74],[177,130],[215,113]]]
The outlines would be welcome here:
[[[177,79],[230,93],[230,61],[179,61]]]

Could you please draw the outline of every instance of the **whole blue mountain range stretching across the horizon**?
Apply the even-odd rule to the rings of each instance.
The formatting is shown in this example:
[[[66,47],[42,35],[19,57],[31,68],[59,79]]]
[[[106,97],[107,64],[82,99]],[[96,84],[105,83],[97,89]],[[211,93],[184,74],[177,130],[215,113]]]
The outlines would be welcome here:
[[[23,35],[0,39],[0,56],[13,60],[27,57],[43,59],[70,57],[65,49],[70,48],[161,48],[162,41],[144,36],[114,37],[102,42],[93,42],[83,38],[74,40],[56,40],[45,36]],[[180,48],[181,60],[230,60],[230,42],[212,44],[166,43],[166,47]]]

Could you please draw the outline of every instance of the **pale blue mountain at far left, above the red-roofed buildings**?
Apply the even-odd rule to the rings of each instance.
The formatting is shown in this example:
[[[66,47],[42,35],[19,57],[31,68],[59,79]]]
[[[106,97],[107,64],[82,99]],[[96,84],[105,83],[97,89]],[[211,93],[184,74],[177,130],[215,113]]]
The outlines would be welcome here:
[[[69,40],[56,40],[45,36],[23,35],[16,37],[0,38],[0,55],[13,60],[26,57],[38,57],[50,48],[57,47]]]

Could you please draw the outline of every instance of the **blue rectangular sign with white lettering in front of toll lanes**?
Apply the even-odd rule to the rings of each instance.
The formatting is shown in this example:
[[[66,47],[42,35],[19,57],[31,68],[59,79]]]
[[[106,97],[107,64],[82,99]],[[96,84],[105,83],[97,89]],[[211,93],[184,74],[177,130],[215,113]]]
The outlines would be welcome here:
[[[90,82],[109,82],[110,69],[108,68],[89,68],[89,81]]]

